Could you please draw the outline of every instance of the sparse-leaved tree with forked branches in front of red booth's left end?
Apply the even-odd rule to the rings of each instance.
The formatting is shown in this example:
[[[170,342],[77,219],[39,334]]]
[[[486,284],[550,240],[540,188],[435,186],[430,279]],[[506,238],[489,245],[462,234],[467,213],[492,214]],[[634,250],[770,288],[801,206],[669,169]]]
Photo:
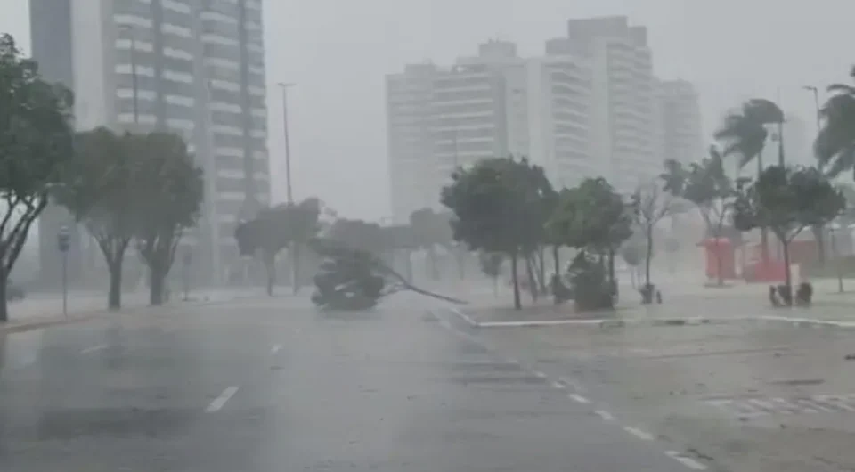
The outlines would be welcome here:
[[[688,168],[669,159],[665,162],[665,172],[660,178],[664,181],[664,191],[689,201],[697,208],[706,225],[706,232],[712,237],[718,265],[718,283],[724,285],[718,245],[728,224],[736,191],[724,170],[721,152],[715,146],[711,146],[709,152],[709,157],[692,163]]]

